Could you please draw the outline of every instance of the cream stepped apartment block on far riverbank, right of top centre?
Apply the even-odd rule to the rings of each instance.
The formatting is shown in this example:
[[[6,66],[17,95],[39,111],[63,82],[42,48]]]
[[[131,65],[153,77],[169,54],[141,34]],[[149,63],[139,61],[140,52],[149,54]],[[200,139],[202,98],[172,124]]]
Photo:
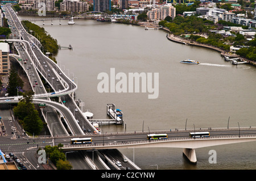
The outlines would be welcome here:
[[[167,16],[171,18],[175,18],[176,8],[171,4],[166,4],[164,6],[159,7],[158,9],[152,9],[147,12],[148,19],[151,20],[163,20]]]

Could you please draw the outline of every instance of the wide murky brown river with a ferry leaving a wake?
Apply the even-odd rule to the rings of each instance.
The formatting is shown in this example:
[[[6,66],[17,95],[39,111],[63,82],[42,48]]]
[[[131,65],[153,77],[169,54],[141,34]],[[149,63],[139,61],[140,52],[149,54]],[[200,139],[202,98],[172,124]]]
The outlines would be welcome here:
[[[191,129],[193,125],[196,129],[226,128],[229,117],[229,127],[238,127],[238,123],[240,127],[256,126],[255,66],[234,66],[215,50],[174,43],[162,30],[96,20],[75,19],[73,26],[67,20],[61,25],[59,20],[52,22],[36,24],[61,46],[72,45],[73,50],[61,49],[55,56],[61,69],[75,77],[77,99],[85,103],[83,110],[90,110],[94,119],[105,119],[106,104],[114,103],[123,112],[126,129],[102,125],[104,133],[184,129],[186,120]],[[187,58],[201,64],[180,64]],[[148,99],[148,91],[100,93],[97,76],[107,73],[110,77],[111,68],[127,77],[136,72],[158,73],[158,98]],[[255,169],[255,148],[255,142],[248,142],[196,149],[196,165],[187,162],[183,149],[120,151],[141,169],[156,169],[151,165],[159,169]],[[217,163],[209,163],[210,150],[216,151]]]

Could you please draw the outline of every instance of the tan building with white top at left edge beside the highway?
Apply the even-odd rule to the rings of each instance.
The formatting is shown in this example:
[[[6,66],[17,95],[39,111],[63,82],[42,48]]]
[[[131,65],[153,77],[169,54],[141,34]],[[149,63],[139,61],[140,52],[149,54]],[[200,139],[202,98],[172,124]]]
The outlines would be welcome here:
[[[8,74],[10,70],[9,44],[0,43],[0,74]]]

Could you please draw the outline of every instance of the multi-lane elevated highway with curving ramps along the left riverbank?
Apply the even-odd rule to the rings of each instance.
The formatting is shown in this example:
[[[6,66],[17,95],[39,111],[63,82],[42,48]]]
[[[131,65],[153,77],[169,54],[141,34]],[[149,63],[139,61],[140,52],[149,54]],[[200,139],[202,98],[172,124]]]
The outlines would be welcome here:
[[[11,12],[10,12],[11,11]],[[23,52],[18,51],[19,56],[13,55],[18,61],[19,58],[26,58],[31,66],[31,69],[28,69],[26,71],[26,65],[24,65],[24,61],[19,61],[22,68],[26,71],[27,76],[30,80],[30,84],[32,85],[32,89],[35,92],[34,99],[36,100],[35,103],[40,102],[44,103],[43,99],[51,99],[51,98],[58,98],[58,101],[61,102],[61,104],[58,104],[58,106],[62,106],[62,109],[59,109],[64,112],[59,112],[59,115],[65,115],[64,120],[66,124],[69,126],[69,131],[71,131],[72,135],[77,134],[84,134],[84,132],[81,131],[81,127],[85,126],[86,128],[90,128],[91,130],[98,132],[97,129],[95,129],[92,124],[90,124],[89,120],[83,115],[80,108],[77,106],[75,101],[73,100],[73,92],[77,90],[77,85],[74,81],[72,81],[60,68],[53,62],[51,59],[49,59],[46,55],[44,55],[40,50],[40,42],[38,39],[36,39],[34,36],[30,35],[30,33],[26,32],[19,20],[19,18],[16,16],[15,13],[12,12],[13,10],[9,7],[7,8],[6,13],[9,13],[7,15],[7,18],[10,19],[13,28],[14,33],[16,33],[16,39],[9,39],[6,41],[13,42],[15,44],[19,44],[23,47]],[[18,47],[15,47],[18,49]],[[26,55],[26,57],[23,57]],[[24,60],[26,60],[24,59]],[[33,75],[36,77],[31,77],[31,72],[29,70],[33,69]],[[43,79],[46,80],[48,83],[48,92],[47,90],[42,87],[42,89],[39,88],[39,86],[33,86],[35,85],[35,81],[41,81],[38,73],[43,77]],[[39,83],[38,83],[39,84]],[[40,85],[43,85],[42,82],[40,82]],[[49,87],[53,90],[53,92],[49,92]],[[13,96],[8,97],[9,100],[14,100],[17,98],[20,98],[21,96]],[[65,104],[63,104],[63,101],[61,98],[64,98]],[[0,98],[0,100],[5,100],[6,98]],[[59,127],[59,129],[63,130],[59,132],[60,135],[67,134],[68,132],[64,130],[63,124],[61,124],[60,116],[56,117],[53,116],[56,113],[55,109],[52,109],[49,106],[49,104],[55,104],[54,102],[47,102],[48,108],[46,108],[44,111],[42,111],[44,117],[46,118],[48,122],[48,128],[51,129],[51,125],[54,124],[55,127]],[[69,105],[69,107],[66,107]],[[55,105],[56,106],[56,105]],[[68,109],[67,109],[68,108]],[[77,108],[78,111],[75,112],[75,109]],[[48,110],[47,110],[48,109]],[[74,111],[71,111],[74,110]],[[47,116],[48,115],[51,116]],[[52,113],[50,113],[52,112]],[[47,119],[49,117],[49,119]],[[57,122],[55,120],[58,120]],[[81,125],[77,124],[76,120],[80,120]],[[60,123],[60,124],[59,124]]]

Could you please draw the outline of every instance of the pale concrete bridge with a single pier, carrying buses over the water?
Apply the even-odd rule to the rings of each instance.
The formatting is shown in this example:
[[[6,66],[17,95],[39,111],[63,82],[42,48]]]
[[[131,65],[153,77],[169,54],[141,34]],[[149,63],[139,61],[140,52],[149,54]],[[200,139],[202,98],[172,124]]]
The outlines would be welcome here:
[[[193,132],[193,131],[192,131]],[[241,132],[241,133],[240,133]],[[98,142],[98,139],[104,140],[104,135],[98,137],[92,137],[92,140],[97,142],[97,144],[87,144],[87,145],[64,145],[62,148],[64,151],[74,151],[74,150],[101,150],[101,149],[127,149],[127,148],[183,148],[183,154],[189,159],[190,162],[196,163],[196,151],[197,148],[204,148],[209,146],[226,145],[226,144],[236,144],[241,142],[256,141],[256,129],[255,128],[235,128],[235,129],[220,129],[212,130],[210,133],[213,136],[205,138],[189,138],[188,131],[183,131],[178,133],[168,132],[168,138],[165,140],[147,140],[146,134],[112,134],[105,135],[108,137],[108,141]],[[113,139],[120,140],[113,143]],[[131,138],[133,137],[133,138]],[[137,137],[137,140],[134,140]]]

